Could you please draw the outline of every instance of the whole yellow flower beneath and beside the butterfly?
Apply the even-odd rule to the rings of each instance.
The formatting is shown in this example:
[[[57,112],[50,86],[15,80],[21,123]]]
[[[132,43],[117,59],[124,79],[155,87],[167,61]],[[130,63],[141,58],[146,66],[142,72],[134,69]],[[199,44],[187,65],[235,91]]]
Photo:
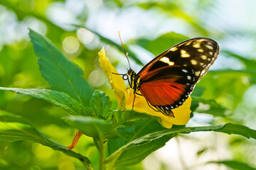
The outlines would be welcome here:
[[[114,69],[110,61],[105,55],[104,47],[99,52],[100,56],[100,66],[104,69],[105,73],[107,74],[108,81],[114,91],[115,96],[117,96],[118,102],[118,109],[125,110],[125,109],[132,109],[132,103],[134,100],[134,90],[129,89],[127,90],[124,80],[120,75],[112,74],[117,73],[117,70]],[[159,117],[159,123],[163,125],[165,128],[171,128],[172,125],[185,125],[188,123],[191,114],[191,97],[189,97],[182,106],[173,109],[173,113],[175,118],[168,117],[163,113],[156,112],[149,105],[146,103],[146,99],[144,96],[136,95],[133,110],[140,112],[140,113],[147,113],[149,115],[154,115]]]

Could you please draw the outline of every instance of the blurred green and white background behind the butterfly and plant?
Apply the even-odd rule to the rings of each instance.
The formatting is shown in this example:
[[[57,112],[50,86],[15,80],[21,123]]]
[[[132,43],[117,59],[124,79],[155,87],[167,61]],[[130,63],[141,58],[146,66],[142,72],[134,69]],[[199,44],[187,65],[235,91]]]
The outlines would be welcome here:
[[[28,28],[46,35],[63,54],[84,70],[95,88],[105,91],[117,108],[97,52],[105,46],[107,57],[120,73],[128,64],[118,45],[118,30],[132,69],[139,71],[155,55],[146,46],[169,32],[172,39],[208,37],[220,45],[218,60],[199,87],[202,97],[213,99],[222,109],[208,111],[199,104],[189,126],[238,123],[256,129],[256,1],[253,0],[0,0],[0,86],[50,89],[39,72],[29,42]],[[85,28],[79,28],[80,25]],[[96,34],[95,34],[96,33]],[[105,38],[105,39],[102,39]],[[171,38],[170,38],[171,39]],[[168,38],[161,41],[171,47]],[[153,49],[162,47],[152,47]],[[166,50],[166,49],[164,49]],[[162,51],[164,51],[162,50]],[[156,50],[157,51],[157,50]],[[0,91],[0,109],[31,120],[51,140],[68,146],[75,130],[61,119],[62,108],[36,98]],[[256,167],[255,140],[216,132],[179,135],[127,169],[229,169],[223,160]],[[81,137],[76,152],[97,167],[98,153],[88,137]],[[77,160],[33,142],[0,142],[0,169],[83,169]]]

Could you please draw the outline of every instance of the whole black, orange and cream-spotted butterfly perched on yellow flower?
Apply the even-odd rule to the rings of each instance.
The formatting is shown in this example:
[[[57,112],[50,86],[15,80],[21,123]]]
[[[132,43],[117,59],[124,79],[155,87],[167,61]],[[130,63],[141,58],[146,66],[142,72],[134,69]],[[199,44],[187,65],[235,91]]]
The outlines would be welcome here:
[[[196,83],[218,57],[219,51],[215,40],[192,38],[162,52],[139,73],[130,68],[123,75],[127,75],[127,79],[129,76],[134,100],[136,94],[142,95],[152,109],[174,117],[171,109],[178,108],[186,101]]]

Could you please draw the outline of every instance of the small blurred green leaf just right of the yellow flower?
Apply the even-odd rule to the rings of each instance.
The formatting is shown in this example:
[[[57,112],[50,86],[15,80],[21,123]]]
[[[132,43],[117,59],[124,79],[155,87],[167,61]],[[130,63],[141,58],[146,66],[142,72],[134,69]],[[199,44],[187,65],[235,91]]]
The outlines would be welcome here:
[[[228,112],[229,112],[228,108],[221,106],[219,103],[217,103],[213,99],[206,100],[198,96],[192,96],[192,99],[193,101],[198,101],[206,105],[206,108],[203,108],[203,110],[197,109],[196,112],[198,113],[208,113],[211,115],[218,115],[222,117],[228,116]]]

